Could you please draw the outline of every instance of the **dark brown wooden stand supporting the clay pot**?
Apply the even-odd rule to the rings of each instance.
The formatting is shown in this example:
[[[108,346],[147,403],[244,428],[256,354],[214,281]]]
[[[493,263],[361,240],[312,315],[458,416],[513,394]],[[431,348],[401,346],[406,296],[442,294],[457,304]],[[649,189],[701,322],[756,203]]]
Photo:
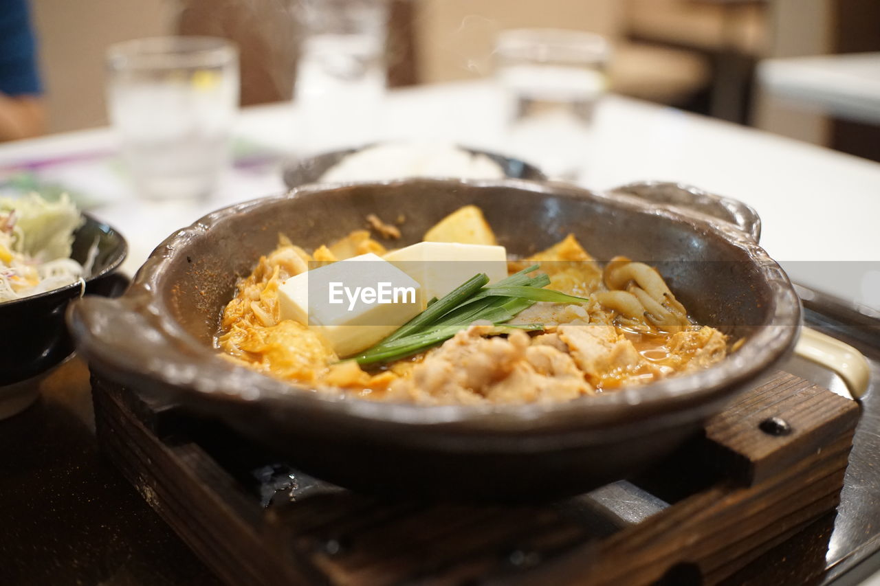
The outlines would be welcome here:
[[[639,478],[546,505],[465,506],[354,494],[99,377],[92,395],[106,454],[234,584],[736,581],[827,522],[859,414],[780,371]]]

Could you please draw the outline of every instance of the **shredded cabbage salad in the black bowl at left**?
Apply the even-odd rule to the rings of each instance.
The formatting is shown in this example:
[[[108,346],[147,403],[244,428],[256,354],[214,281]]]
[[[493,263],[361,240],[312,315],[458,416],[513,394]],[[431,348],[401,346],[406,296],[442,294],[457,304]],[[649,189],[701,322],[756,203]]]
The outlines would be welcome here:
[[[58,201],[0,198],[0,303],[82,280],[88,268],[70,258],[82,223],[66,194]]]

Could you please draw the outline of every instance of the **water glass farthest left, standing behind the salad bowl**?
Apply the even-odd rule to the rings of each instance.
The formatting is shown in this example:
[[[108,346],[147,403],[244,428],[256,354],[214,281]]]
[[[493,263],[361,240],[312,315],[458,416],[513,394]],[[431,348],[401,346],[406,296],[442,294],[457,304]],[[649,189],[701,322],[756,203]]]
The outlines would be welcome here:
[[[130,40],[107,50],[107,104],[137,190],[207,198],[229,163],[238,50],[213,37]]]

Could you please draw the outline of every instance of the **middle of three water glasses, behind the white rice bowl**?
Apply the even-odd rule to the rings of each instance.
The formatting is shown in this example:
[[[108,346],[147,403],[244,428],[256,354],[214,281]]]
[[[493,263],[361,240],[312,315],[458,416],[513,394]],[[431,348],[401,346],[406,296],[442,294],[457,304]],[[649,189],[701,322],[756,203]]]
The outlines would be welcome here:
[[[294,97],[309,150],[375,140],[385,94],[385,0],[301,0]]]

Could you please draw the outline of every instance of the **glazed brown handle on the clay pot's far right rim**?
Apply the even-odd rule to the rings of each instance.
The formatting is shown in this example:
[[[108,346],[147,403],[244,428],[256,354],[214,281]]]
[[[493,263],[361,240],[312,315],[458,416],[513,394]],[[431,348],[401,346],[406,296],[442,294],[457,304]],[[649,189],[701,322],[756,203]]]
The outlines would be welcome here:
[[[615,187],[612,194],[638,197],[677,208],[692,209],[706,216],[712,216],[731,223],[740,231],[758,242],[761,237],[761,219],[758,212],[742,201],[709,194],[696,187],[681,183],[664,181],[639,181],[622,187]]]

